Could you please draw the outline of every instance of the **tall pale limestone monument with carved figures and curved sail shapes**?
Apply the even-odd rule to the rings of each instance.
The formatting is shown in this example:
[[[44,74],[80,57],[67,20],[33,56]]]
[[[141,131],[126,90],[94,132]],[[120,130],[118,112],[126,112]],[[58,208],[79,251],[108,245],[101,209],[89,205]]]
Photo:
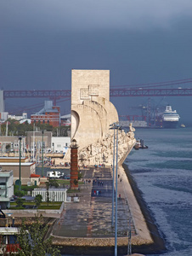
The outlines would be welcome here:
[[[110,102],[109,70],[71,72],[71,141],[78,143],[79,165],[110,166],[113,162],[114,131],[118,113]],[[135,143],[133,131],[119,131],[118,160],[127,156]],[[69,150],[70,151],[70,150]],[[70,152],[65,161],[70,161]]]

